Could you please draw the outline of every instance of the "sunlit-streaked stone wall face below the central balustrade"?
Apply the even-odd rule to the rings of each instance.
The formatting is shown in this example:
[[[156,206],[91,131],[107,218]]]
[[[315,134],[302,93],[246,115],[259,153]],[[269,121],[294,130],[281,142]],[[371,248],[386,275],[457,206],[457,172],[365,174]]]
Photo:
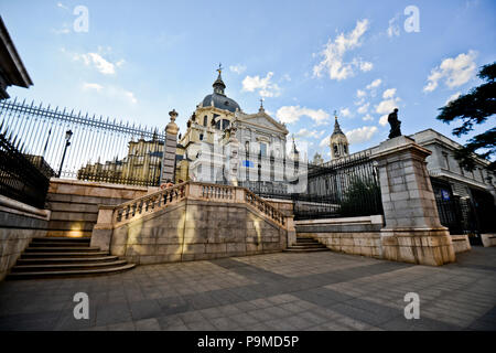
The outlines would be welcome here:
[[[186,199],[115,228],[110,253],[134,264],[160,264],[274,253],[285,247],[285,229],[247,204]]]

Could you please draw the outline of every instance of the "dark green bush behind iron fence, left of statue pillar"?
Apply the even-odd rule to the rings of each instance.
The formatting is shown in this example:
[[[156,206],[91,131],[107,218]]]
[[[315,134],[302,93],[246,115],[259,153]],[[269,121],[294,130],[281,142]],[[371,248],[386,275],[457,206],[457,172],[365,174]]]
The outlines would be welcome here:
[[[339,213],[343,216],[374,215],[381,214],[381,207],[378,183],[371,178],[355,178],[344,194]]]

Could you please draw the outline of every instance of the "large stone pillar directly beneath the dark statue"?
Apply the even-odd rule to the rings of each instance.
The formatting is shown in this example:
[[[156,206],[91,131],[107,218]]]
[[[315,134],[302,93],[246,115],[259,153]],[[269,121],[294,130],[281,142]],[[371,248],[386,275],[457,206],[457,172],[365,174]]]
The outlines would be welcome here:
[[[425,158],[431,152],[400,136],[373,151],[378,162],[386,226],[386,259],[440,266],[455,261],[450,233],[440,223]]]

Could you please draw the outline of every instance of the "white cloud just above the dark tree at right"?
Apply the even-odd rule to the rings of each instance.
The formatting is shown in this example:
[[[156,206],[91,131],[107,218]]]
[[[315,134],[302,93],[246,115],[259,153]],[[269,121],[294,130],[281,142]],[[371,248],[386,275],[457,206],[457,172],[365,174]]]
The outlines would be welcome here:
[[[441,79],[444,79],[444,84],[451,89],[466,84],[474,77],[477,68],[474,62],[476,56],[477,52],[471,50],[466,54],[462,53],[456,57],[443,60],[441,65],[431,71],[423,92],[432,92],[438,88],[439,81]]]

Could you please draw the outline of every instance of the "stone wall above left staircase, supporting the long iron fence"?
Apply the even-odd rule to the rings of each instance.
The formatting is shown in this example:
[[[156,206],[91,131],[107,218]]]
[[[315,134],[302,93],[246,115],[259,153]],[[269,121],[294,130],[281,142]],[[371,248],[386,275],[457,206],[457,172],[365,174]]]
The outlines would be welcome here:
[[[52,211],[47,236],[91,236],[98,205],[117,205],[158,188],[117,185],[52,178],[46,208]]]

